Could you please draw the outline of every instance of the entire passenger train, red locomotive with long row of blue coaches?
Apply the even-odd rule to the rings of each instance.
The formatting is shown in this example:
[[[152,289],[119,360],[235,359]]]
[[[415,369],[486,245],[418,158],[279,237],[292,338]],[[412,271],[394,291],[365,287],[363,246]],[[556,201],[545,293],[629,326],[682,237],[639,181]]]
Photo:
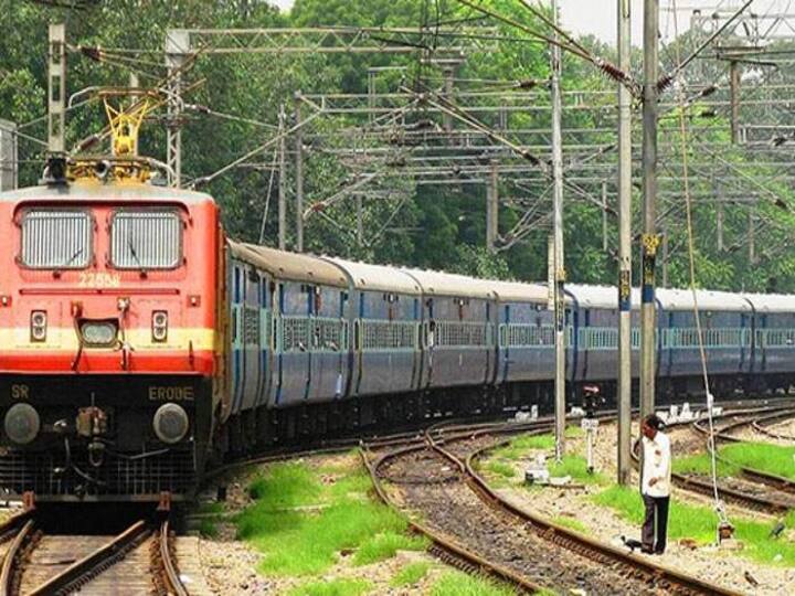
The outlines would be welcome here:
[[[544,284],[236,242],[212,196],[155,185],[135,160],[50,171],[0,193],[8,499],[170,503],[214,462],[279,443],[552,407]],[[791,296],[697,298],[717,396],[789,387]],[[617,302],[615,288],[565,288],[570,404],[586,384],[615,396]],[[696,395],[693,295],[659,289],[656,304],[658,393]]]

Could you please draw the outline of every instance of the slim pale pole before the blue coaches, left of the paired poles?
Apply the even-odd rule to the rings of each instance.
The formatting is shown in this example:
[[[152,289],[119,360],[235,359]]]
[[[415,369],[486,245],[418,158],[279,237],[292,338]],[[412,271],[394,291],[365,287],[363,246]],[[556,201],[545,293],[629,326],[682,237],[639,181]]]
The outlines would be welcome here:
[[[552,20],[558,24],[558,2],[552,0]],[[555,40],[558,33],[555,32]],[[554,317],[555,317],[555,460],[565,454],[565,298],[563,283],[563,142],[561,138],[561,51],[559,45],[551,50],[552,89],[552,225],[554,234]]]

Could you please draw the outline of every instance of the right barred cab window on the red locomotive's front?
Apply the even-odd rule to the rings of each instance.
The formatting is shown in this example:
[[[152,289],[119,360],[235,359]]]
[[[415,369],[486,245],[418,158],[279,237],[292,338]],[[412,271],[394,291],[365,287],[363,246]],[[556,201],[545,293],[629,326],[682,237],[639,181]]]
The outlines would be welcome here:
[[[182,221],[174,211],[125,210],[110,221],[110,263],[118,269],[173,269],[182,259]]]

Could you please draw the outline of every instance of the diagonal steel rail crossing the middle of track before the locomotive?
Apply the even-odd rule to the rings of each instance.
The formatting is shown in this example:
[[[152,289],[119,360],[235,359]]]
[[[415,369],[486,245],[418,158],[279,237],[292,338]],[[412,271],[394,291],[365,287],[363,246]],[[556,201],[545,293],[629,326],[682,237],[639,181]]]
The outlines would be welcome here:
[[[93,553],[74,562],[63,572],[51,577],[33,589],[29,596],[52,596],[68,594],[121,561],[138,546],[150,531],[144,521],[138,521]]]

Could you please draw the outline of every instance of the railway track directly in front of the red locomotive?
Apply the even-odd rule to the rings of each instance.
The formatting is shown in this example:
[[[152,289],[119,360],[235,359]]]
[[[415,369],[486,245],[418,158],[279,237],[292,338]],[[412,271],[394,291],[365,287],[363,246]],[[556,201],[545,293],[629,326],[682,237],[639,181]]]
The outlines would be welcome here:
[[[0,536],[8,536],[0,596],[188,596],[168,519],[140,520],[116,535],[59,535],[39,529],[30,511],[2,524]]]

